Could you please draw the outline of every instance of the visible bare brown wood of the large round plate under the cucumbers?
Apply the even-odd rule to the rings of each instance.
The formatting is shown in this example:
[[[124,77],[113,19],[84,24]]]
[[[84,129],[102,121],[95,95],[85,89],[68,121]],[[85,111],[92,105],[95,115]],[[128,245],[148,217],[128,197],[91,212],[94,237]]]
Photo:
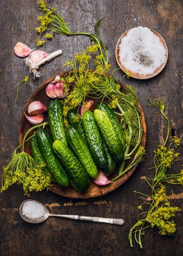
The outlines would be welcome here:
[[[66,74],[70,73],[70,71],[68,72],[64,72],[59,74],[59,76],[62,78],[63,76],[65,76]],[[25,108],[23,109],[23,113],[21,115],[20,118],[20,125],[19,125],[19,143],[22,144],[23,141],[23,137],[25,135],[25,133],[28,131],[28,129],[30,129],[32,127],[32,125],[27,121],[25,115],[24,115],[24,111],[27,114],[28,112],[28,105],[33,102],[33,101],[41,101],[43,102],[45,105],[48,106],[49,102],[51,101],[51,99],[46,95],[46,87],[48,84],[51,83],[51,81],[53,81],[55,79],[56,76],[53,76],[51,79],[48,79],[47,81],[45,81],[43,84],[41,84],[37,90],[35,90],[35,92],[32,94],[32,96],[28,99],[28,102],[25,105]],[[120,85],[122,87],[125,87],[125,85],[120,82]],[[72,84],[71,84],[72,86]],[[99,101],[99,100],[98,100]],[[96,105],[98,102],[96,99],[93,99],[94,104]],[[107,102],[107,101],[106,101]],[[141,118],[142,118],[142,126],[143,126],[143,134],[142,134],[142,140],[141,140],[141,145],[143,147],[145,147],[146,144],[146,123],[145,123],[145,117],[144,117],[144,112],[141,108],[141,105],[138,102],[138,108],[141,111]],[[47,113],[44,113],[44,121],[47,121]],[[48,125],[46,125],[46,130],[50,133],[49,127]],[[30,133],[31,135],[31,133]],[[27,152],[28,154],[31,155],[31,149],[29,147],[29,143],[25,143],[25,152]],[[132,157],[133,159],[133,157]],[[127,160],[125,166],[127,167],[130,164],[130,161],[132,160]],[[114,189],[118,188],[119,186],[121,186],[121,184],[123,184],[131,175],[132,173],[135,171],[135,169],[137,168],[138,165],[134,166],[132,169],[129,170],[129,172],[127,172],[125,175],[121,176],[120,178],[118,178],[117,180],[115,180],[114,183],[110,183],[106,186],[97,186],[95,183],[93,183],[93,181],[91,182],[90,188],[87,189],[87,191],[85,192],[78,192],[76,190],[74,190],[70,185],[68,187],[62,187],[59,184],[54,183],[53,186],[51,186],[50,190],[56,194],[68,197],[68,198],[94,198],[94,197],[98,197],[104,194],[107,194],[111,191],[113,191]],[[116,177],[118,175],[118,170],[119,170],[119,164],[116,166],[116,170],[113,173],[113,175],[110,175],[110,180],[112,180],[114,177]]]

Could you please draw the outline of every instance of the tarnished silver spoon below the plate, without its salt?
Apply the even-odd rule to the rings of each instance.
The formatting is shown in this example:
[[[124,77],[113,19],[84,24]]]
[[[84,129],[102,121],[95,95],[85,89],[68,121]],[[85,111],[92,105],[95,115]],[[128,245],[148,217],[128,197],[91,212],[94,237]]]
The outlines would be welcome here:
[[[42,216],[39,219],[31,219],[26,217],[25,215],[23,215],[23,205],[25,204],[25,202],[28,201],[35,201],[39,204],[39,201],[36,200],[25,200],[21,205],[20,205],[20,216],[23,218],[24,221],[27,221],[29,223],[40,223],[45,221],[48,217],[61,217],[61,218],[71,218],[71,219],[75,219],[75,220],[81,220],[81,221],[95,221],[95,222],[104,222],[104,223],[109,223],[109,224],[116,224],[116,225],[123,225],[124,224],[124,220],[123,219],[115,219],[115,218],[101,218],[101,217],[87,217],[87,216],[80,216],[80,215],[66,215],[66,214],[51,214],[48,212],[48,209],[45,207],[44,204],[42,204],[45,207],[45,215]]]

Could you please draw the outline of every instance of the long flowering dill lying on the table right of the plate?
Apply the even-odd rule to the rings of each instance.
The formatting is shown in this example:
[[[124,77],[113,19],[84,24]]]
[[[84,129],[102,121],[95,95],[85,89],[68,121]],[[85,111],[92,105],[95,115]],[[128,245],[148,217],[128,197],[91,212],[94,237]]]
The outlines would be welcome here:
[[[175,148],[180,145],[180,139],[177,136],[171,138],[171,143],[169,147],[166,148],[166,143],[169,137],[169,119],[163,113],[165,105],[162,101],[154,102],[149,98],[150,106],[156,107],[160,110],[161,114],[168,121],[168,132],[166,136],[166,141],[163,145],[158,145],[157,150],[154,151],[154,166],[150,169],[155,169],[155,177],[152,182],[152,185],[146,180],[146,182],[151,187],[151,196],[145,195],[152,198],[152,203],[144,202],[142,205],[138,206],[138,209],[142,210],[144,204],[149,205],[149,210],[142,212],[138,215],[138,222],[130,229],[129,241],[131,247],[132,244],[132,235],[135,236],[135,241],[142,248],[141,235],[144,235],[145,229],[148,227],[158,227],[161,235],[174,235],[175,233],[175,222],[172,220],[172,217],[175,217],[177,211],[180,211],[178,207],[171,207],[166,195],[166,187],[162,183],[171,183],[171,184],[181,184],[183,185],[183,169],[179,174],[167,175],[167,169],[171,168],[172,164],[179,160],[179,153],[175,152],[175,149],[172,148],[174,145]],[[157,186],[158,188],[157,190]],[[136,191],[134,191],[136,192]],[[141,195],[144,195],[141,192],[136,192]],[[140,219],[143,216],[144,218]],[[137,238],[138,235],[138,238]]]

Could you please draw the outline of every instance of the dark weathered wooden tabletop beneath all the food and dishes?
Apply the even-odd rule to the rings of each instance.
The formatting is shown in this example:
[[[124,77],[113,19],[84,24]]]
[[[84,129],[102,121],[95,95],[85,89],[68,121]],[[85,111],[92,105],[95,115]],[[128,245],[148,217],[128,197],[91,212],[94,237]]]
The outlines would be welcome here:
[[[175,236],[160,236],[157,228],[146,230],[142,238],[144,245],[140,249],[134,242],[131,248],[128,241],[130,227],[137,221],[138,205],[144,201],[133,191],[149,193],[149,186],[143,180],[145,176],[152,180],[153,150],[163,143],[166,134],[166,121],[156,109],[146,105],[147,97],[167,102],[166,114],[171,121],[171,132],[183,136],[183,1],[182,0],[55,0],[50,2],[60,10],[68,27],[73,32],[94,32],[94,24],[105,17],[100,24],[101,38],[107,45],[111,70],[118,68],[115,60],[115,45],[118,38],[127,29],[135,26],[147,26],[155,29],[166,41],[169,58],[164,70],[155,78],[135,80],[123,78],[118,70],[115,77],[124,83],[132,84],[144,109],[147,125],[146,162],[141,163],[130,179],[120,188],[100,198],[89,200],[70,200],[53,192],[31,192],[30,198],[41,201],[50,212],[124,218],[124,226],[115,226],[69,219],[49,218],[42,224],[28,224],[19,215],[20,204],[27,199],[17,185],[11,186],[0,194],[0,255],[1,256],[126,256],[126,255],[183,255],[183,212],[175,218],[177,231]],[[51,76],[65,71],[65,60],[74,52],[82,51],[90,44],[84,36],[67,37],[55,35],[52,41],[42,49],[52,52],[62,49],[61,56],[44,64],[42,76],[33,79],[29,75],[28,85],[22,85],[14,107],[17,84],[28,75],[25,59],[15,56],[13,47],[21,41],[33,49],[36,44],[39,8],[37,1],[2,0],[1,44],[0,44],[0,166],[3,166],[18,145],[18,126],[23,107],[36,88]],[[170,133],[171,135],[171,133]],[[183,144],[182,144],[183,146]],[[181,153],[182,146],[178,151]],[[183,153],[183,151],[182,151]],[[182,155],[183,156],[183,155]],[[180,161],[172,167],[179,172],[183,164]],[[171,205],[183,210],[183,187],[167,186]]]

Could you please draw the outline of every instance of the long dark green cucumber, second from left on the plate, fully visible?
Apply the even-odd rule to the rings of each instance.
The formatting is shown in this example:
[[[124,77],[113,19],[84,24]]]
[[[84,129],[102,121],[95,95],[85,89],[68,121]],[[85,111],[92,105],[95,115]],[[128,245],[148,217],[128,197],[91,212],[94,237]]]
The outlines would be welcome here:
[[[45,131],[45,129],[43,128],[38,128],[36,131],[36,140],[41,151],[42,157],[44,159],[44,162],[53,178],[61,186],[68,186],[68,175],[53,152],[53,141],[48,132]]]

